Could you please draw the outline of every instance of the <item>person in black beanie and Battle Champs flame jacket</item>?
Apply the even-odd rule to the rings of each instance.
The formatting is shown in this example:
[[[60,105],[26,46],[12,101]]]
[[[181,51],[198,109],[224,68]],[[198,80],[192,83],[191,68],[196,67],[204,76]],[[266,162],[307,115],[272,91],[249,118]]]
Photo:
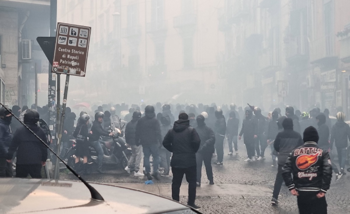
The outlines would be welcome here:
[[[291,151],[282,167],[286,186],[297,196],[299,213],[327,213],[325,193],[332,179],[331,159],[328,150],[322,150],[317,141],[316,129],[307,127],[303,133],[304,144]]]

